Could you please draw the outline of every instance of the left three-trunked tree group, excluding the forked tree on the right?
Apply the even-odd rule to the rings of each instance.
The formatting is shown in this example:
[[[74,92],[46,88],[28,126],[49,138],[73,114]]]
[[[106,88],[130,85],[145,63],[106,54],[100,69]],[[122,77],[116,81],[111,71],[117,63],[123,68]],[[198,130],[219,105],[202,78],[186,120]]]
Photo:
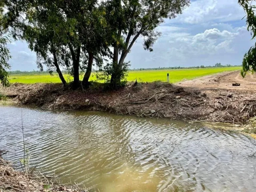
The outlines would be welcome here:
[[[55,66],[64,85],[59,66],[69,68],[74,88],[81,85],[80,69],[86,69],[83,84],[88,84],[93,61],[102,64],[98,58],[109,50],[104,7],[95,0],[7,1],[9,26],[37,53],[39,66]]]

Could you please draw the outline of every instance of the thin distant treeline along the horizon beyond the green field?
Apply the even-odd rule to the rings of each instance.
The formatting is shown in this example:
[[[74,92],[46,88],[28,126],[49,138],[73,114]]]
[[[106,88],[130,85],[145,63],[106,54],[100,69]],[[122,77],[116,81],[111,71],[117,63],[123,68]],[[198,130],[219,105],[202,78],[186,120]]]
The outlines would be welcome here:
[[[138,68],[138,69],[129,69],[129,71],[144,71],[144,70],[168,70],[168,69],[198,69],[198,68],[215,68],[215,67],[235,67],[235,66],[242,66],[242,65],[221,65],[221,63],[216,63],[215,65],[211,66],[193,66],[193,67],[158,67],[158,68]],[[45,74],[49,73],[48,71],[9,71],[9,74]],[[53,71],[53,73],[57,73],[56,71]],[[62,73],[67,73],[67,71],[62,71]]]

